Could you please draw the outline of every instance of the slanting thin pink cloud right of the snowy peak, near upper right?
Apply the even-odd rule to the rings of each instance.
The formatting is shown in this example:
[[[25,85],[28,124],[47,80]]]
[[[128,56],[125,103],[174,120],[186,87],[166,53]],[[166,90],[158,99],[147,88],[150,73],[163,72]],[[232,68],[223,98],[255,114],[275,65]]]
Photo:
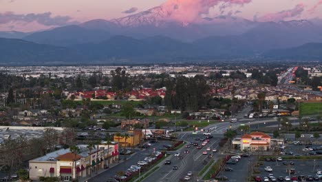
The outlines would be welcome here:
[[[299,3],[293,9],[283,10],[276,13],[268,13],[262,17],[258,17],[255,21],[282,21],[287,18],[297,17],[304,11],[304,4]]]

